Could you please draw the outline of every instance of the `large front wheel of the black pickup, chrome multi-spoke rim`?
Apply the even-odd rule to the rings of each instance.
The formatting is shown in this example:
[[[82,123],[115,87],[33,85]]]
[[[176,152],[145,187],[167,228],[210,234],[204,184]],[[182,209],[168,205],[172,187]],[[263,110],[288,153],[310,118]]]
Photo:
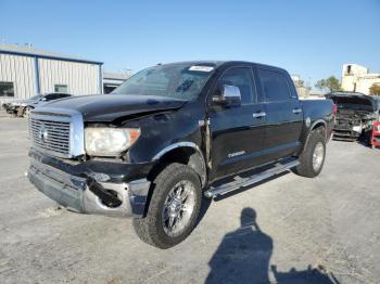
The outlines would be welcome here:
[[[143,242],[165,249],[182,242],[194,229],[202,202],[201,182],[199,176],[190,167],[174,163],[159,173],[153,181],[153,186],[147,216],[134,219],[132,223],[135,232]],[[169,216],[176,215],[178,204],[175,199],[178,197],[180,189],[182,189],[181,192],[192,192],[192,194],[189,193],[188,199],[183,201],[183,204],[188,202],[191,206],[187,205],[187,210],[182,211],[181,209],[177,212],[177,216],[181,217],[178,222],[170,221],[177,218]],[[170,197],[173,194],[175,197]],[[167,204],[170,206],[165,207]],[[181,224],[181,220],[186,225]],[[173,231],[170,231],[170,222]],[[182,229],[179,230],[179,228]],[[175,232],[174,230],[179,231]]]

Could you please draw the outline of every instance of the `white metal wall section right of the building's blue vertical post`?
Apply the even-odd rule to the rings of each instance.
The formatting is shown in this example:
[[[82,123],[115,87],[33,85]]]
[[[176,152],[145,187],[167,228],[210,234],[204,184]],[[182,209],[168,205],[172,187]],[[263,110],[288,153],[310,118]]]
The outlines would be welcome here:
[[[40,92],[54,92],[54,85],[67,85],[71,94],[100,93],[100,68],[98,64],[38,60]]]

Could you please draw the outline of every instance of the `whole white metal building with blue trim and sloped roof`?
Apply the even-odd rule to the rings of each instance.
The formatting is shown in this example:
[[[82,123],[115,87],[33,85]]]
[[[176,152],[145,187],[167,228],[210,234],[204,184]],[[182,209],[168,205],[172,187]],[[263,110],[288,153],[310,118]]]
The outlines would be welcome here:
[[[103,93],[102,62],[0,44],[0,102],[37,93]]]

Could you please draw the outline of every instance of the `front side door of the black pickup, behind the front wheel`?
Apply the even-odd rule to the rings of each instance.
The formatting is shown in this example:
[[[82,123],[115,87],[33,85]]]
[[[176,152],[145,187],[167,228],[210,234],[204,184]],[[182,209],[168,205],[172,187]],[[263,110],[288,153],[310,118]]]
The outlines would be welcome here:
[[[265,135],[264,105],[257,103],[252,68],[227,69],[218,80],[218,86],[223,85],[239,88],[241,105],[211,106],[213,180],[259,165]]]

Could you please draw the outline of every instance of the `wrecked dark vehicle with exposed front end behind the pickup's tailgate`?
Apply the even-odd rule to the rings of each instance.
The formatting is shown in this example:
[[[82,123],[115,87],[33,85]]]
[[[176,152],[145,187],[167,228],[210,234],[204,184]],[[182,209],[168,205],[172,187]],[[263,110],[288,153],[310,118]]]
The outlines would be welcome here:
[[[333,139],[355,141],[362,138],[369,144],[372,124],[379,120],[380,99],[358,92],[332,92],[326,98],[338,108]]]

